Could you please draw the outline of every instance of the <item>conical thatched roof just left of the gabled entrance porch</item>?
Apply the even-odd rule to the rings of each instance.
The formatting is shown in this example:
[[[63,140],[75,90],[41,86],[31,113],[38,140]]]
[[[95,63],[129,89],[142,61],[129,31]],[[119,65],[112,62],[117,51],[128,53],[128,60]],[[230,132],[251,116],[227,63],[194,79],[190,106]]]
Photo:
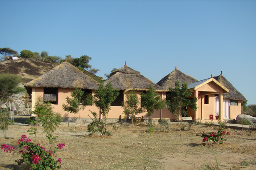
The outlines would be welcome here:
[[[172,71],[166,77],[163,77],[163,79],[157,82],[157,85],[160,85],[162,88],[168,90],[169,88],[175,88],[176,81],[179,81],[181,85],[184,82],[190,84],[192,82],[197,82],[198,80],[182,73],[181,71],[177,70],[177,68],[175,68],[174,71]]]

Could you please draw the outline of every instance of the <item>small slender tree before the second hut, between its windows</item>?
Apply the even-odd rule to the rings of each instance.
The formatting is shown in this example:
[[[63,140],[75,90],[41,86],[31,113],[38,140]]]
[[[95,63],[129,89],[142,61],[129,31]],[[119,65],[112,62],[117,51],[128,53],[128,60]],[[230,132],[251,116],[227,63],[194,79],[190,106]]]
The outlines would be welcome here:
[[[131,126],[134,125],[134,116],[138,115],[139,113],[142,113],[142,108],[139,108],[139,99],[137,97],[136,91],[132,90],[129,91],[129,93],[125,96],[126,100],[124,102],[124,111],[125,115],[130,116],[131,115]]]

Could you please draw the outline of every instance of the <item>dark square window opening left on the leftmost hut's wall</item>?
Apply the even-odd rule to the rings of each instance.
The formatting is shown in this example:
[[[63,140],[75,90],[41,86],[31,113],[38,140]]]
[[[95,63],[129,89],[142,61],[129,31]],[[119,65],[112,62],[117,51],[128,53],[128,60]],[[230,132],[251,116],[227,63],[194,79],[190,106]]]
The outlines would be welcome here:
[[[58,105],[58,88],[44,88],[44,102]]]

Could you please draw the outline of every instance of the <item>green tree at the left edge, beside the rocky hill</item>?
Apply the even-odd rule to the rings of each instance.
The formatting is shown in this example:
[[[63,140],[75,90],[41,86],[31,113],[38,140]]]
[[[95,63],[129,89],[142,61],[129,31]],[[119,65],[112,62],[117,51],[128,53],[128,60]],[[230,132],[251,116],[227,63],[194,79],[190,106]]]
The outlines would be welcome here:
[[[6,103],[6,109],[0,107],[0,128],[6,137],[6,130],[10,124],[9,119],[9,102],[12,102],[12,95],[20,94],[25,91],[19,87],[22,79],[15,74],[0,74],[0,105]]]

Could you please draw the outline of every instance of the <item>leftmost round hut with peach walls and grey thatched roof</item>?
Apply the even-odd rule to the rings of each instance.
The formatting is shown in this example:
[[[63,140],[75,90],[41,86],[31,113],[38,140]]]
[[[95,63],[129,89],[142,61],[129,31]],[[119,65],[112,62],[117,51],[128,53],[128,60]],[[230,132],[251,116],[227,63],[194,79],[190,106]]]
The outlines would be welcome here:
[[[84,97],[86,97],[88,94],[93,94],[94,90],[98,88],[98,84],[96,80],[69,62],[62,62],[46,74],[28,82],[25,86],[32,91],[32,111],[35,109],[36,100],[41,96],[45,102],[52,103],[53,111],[62,116],[77,117],[78,115],[74,114],[69,116],[69,113],[62,109],[62,105],[66,104],[67,96],[70,97],[74,88],[77,87],[84,91]],[[86,111],[80,113],[81,117],[87,117],[88,110],[96,111],[95,106],[86,108]]]

